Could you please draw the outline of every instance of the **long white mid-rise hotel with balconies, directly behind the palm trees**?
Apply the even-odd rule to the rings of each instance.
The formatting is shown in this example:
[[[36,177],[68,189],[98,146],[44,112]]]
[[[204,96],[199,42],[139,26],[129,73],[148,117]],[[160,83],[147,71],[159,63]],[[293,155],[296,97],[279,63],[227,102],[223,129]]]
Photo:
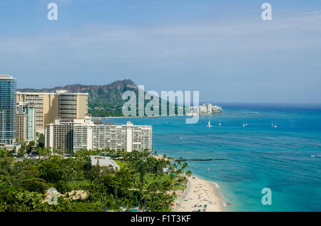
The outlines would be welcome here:
[[[63,151],[81,149],[115,149],[151,151],[152,127],[127,124],[103,124],[101,121],[85,119],[56,119],[46,126],[46,146]]]

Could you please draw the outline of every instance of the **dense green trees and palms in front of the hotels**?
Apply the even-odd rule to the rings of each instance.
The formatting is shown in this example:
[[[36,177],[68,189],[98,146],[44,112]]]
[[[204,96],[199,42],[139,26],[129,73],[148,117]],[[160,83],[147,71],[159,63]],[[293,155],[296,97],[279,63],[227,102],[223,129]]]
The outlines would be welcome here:
[[[170,211],[190,175],[187,163],[172,164],[165,155],[108,149],[65,154],[46,148],[42,134],[37,138],[21,141],[17,150],[0,149],[0,211]],[[92,155],[109,156],[120,168],[93,166]],[[48,202],[50,188],[57,190],[57,205]],[[78,191],[85,195],[75,198]]]

